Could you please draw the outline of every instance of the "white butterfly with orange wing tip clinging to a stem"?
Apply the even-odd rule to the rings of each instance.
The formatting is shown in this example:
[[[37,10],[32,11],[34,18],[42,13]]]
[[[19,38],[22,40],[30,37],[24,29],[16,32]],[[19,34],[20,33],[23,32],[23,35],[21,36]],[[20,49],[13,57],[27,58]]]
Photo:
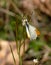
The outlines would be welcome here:
[[[23,26],[26,27],[27,36],[30,40],[34,40],[40,34],[40,32],[32,25],[30,25],[27,19],[23,20]]]

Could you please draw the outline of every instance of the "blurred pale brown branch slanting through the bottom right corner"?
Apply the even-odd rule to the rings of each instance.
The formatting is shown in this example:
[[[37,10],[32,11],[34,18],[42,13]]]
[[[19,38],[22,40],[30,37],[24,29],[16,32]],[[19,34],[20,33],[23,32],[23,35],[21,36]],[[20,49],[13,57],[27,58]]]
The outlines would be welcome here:
[[[51,49],[47,45],[44,45],[44,55],[42,57],[42,60],[40,60],[39,65],[42,65],[44,62],[46,62],[49,59],[49,53],[51,52],[50,50]]]

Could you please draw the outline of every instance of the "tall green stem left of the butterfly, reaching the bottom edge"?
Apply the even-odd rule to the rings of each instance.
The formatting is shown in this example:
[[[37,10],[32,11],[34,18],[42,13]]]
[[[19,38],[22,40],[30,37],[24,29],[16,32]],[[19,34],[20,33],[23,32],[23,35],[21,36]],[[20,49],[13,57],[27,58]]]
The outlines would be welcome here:
[[[21,59],[21,56],[20,56],[21,41],[18,44],[17,35],[18,35],[18,21],[16,21],[16,38],[15,39],[16,39],[17,53],[18,53],[18,56],[19,56],[19,65],[22,65],[22,59]]]

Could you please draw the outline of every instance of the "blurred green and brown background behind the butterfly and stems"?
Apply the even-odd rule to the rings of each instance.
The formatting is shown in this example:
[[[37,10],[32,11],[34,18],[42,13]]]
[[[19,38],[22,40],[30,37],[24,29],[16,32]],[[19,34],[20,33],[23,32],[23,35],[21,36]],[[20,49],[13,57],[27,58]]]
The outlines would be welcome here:
[[[34,58],[40,65],[51,65],[51,0],[0,0],[0,65],[14,65],[8,44],[11,44],[18,62],[15,38],[29,40],[22,26],[24,18],[37,27],[40,36],[29,44],[25,42],[29,48],[26,46],[24,55],[21,52],[23,65],[33,65],[30,61]]]

